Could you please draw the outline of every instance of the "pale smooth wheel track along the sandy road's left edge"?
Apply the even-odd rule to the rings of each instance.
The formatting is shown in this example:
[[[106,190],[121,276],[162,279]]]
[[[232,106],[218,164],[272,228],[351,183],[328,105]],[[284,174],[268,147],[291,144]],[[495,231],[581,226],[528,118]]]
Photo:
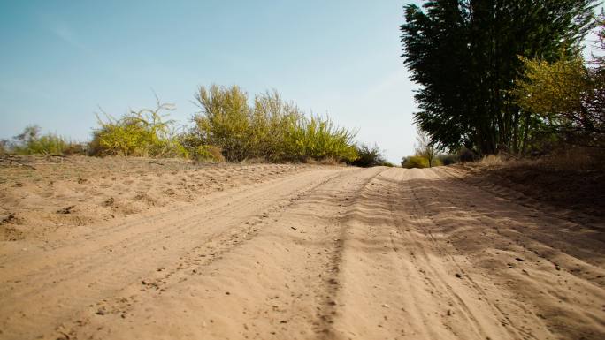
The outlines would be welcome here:
[[[38,274],[30,274],[21,278],[18,283],[3,287],[0,293],[4,302],[0,306],[2,329],[8,331],[10,325],[13,329],[34,330],[44,324],[42,320],[49,322],[57,318],[64,319],[82,306],[115,294],[120,287],[129,283],[140,283],[145,273],[154,272],[171,262],[180,262],[179,257],[188,248],[204,244],[207,240],[218,240],[221,235],[228,234],[235,226],[245,221],[262,219],[268,208],[279,208],[282,204],[280,202],[288,200],[292,195],[295,197],[297,193],[311,191],[321,185],[325,176],[329,180],[342,176],[342,173],[306,173],[263,185],[256,190],[236,191],[236,196],[232,196],[233,200],[225,200],[228,196],[220,195],[225,199],[218,200],[210,209],[194,208],[185,218],[157,216],[154,221],[157,224],[153,225],[151,230],[146,230],[149,225],[142,216],[134,223],[129,223],[129,229],[115,228],[115,232],[105,237],[110,242],[96,246],[97,249],[92,252],[86,249],[67,250],[65,262],[77,259],[70,265],[62,265],[61,263],[65,262],[59,261],[58,266],[50,268],[50,272],[48,268],[42,267]],[[225,215],[227,209],[233,209],[234,215]],[[203,220],[205,225],[215,225],[212,227],[214,231],[203,230],[199,225],[200,220]],[[125,233],[130,235],[121,237]],[[67,287],[71,288],[66,289]],[[80,294],[74,296],[69,293],[74,289],[80,291]],[[86,293],[83,293],[84,291]],[[38,302],[34,303],[36,300]],[[31,307],[35,305],[38,306],[32,310]]]

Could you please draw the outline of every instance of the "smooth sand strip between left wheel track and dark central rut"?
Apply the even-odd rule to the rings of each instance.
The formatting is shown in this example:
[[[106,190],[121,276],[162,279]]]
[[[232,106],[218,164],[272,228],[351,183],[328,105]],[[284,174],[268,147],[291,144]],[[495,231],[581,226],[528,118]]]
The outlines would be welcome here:
[[[108,314],[99,317],[90,311],[80,315],[78,320],[83,322],[72,330],[62,331],[71,338],[103,338],[109,334],[96,330],[99,328],[107,328],[111,334],[123,334],[129,331],[124,329],[127,320],[154,322],[164,320],[165,313],[180,312],[162,310],[150,314],[142,306],[173,305],[175,299],[189,304],[199,298],[200,307],[195,313],[205,316],[203,327],[188,330],[198,338],[325,337],[325,323],[329,322],[327,317],[332,307],[328,298],[333,290],[334,256],[338,252],[337,237],[341,232],[338,223],[344,213],[343,206],[356,197],[356,191],[376,176],[377,171],[381,170],[339,173],[337,178],[294,198],[279,214],[270,214],[272,218],[264,219],[264,227],[259,228],[254,238],[241,242],[212,261],[189,263],[161,288],[153,286],[147,294],[135,292],[126,297],[126,304],[122,298],[101,303],[99,306]],[[300,262],[302,259],[306,261]],[[265,272],[271,274],[266,276]],[[126,290],[125,294],[130,292]],[[188,294],[192,294],[191,298]],[[121,314],[126,318],[122,319]],[[182,317],[188,318],[188,315]],[[178,323],[183,327],[188,324],[182,320]],[[162,337],[164,331],[157,329],[151,337]],[[147,337],[140,332],[133,331],[128,335]],[[171,333],[170,336],[175,335]]]

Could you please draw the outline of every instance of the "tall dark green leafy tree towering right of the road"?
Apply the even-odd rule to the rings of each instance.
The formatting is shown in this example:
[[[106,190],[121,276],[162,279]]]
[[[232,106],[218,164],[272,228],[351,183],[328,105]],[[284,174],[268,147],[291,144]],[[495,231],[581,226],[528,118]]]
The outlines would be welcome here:
[[[509,100],[518,56],[555,61],[579,53],[594,0],[441,0],[405,7],[405,64],[421,85],[417,125],[442,147],[523,151],[539,124]]]

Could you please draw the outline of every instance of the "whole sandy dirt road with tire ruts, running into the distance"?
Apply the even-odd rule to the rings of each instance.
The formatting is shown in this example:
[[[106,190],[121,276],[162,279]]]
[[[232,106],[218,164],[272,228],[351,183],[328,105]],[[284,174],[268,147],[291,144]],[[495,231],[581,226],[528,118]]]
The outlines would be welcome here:
[[[4,252],[0,338],[605,338],[605,225],[465,176],[309,168]]]

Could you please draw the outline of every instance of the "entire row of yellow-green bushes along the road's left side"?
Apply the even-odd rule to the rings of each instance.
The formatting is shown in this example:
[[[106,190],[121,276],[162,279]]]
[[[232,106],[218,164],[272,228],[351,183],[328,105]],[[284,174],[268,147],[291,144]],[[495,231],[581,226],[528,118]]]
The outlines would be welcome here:
[[[189,126],[179,128],[168,116],[174,105],[157,99],[155,109],[131,110],[122,117],[97,114],[98,126],[86,143],[41,135],[40,127],[33,125],[12,140],[3,140],[0,152],[391,165],[378,147],[357,146],[355,131],[336,125],[330,117],[305,114],[277,91],[257,94],[250,103],[240,87],[211,85],[199,88],[195,102],[200,111]]]

